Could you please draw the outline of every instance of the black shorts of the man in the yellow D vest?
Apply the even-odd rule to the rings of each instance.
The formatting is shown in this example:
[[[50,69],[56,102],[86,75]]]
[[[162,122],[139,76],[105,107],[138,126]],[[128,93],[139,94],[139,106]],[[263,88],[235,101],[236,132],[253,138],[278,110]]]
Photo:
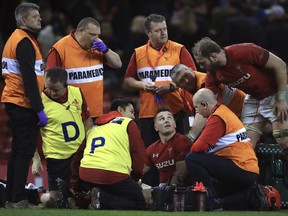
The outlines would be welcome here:
[[[73,156],[67,159],[46,159],[49,190],[58,190],[57,178],[61,178],[70,187],[72,158]]]

